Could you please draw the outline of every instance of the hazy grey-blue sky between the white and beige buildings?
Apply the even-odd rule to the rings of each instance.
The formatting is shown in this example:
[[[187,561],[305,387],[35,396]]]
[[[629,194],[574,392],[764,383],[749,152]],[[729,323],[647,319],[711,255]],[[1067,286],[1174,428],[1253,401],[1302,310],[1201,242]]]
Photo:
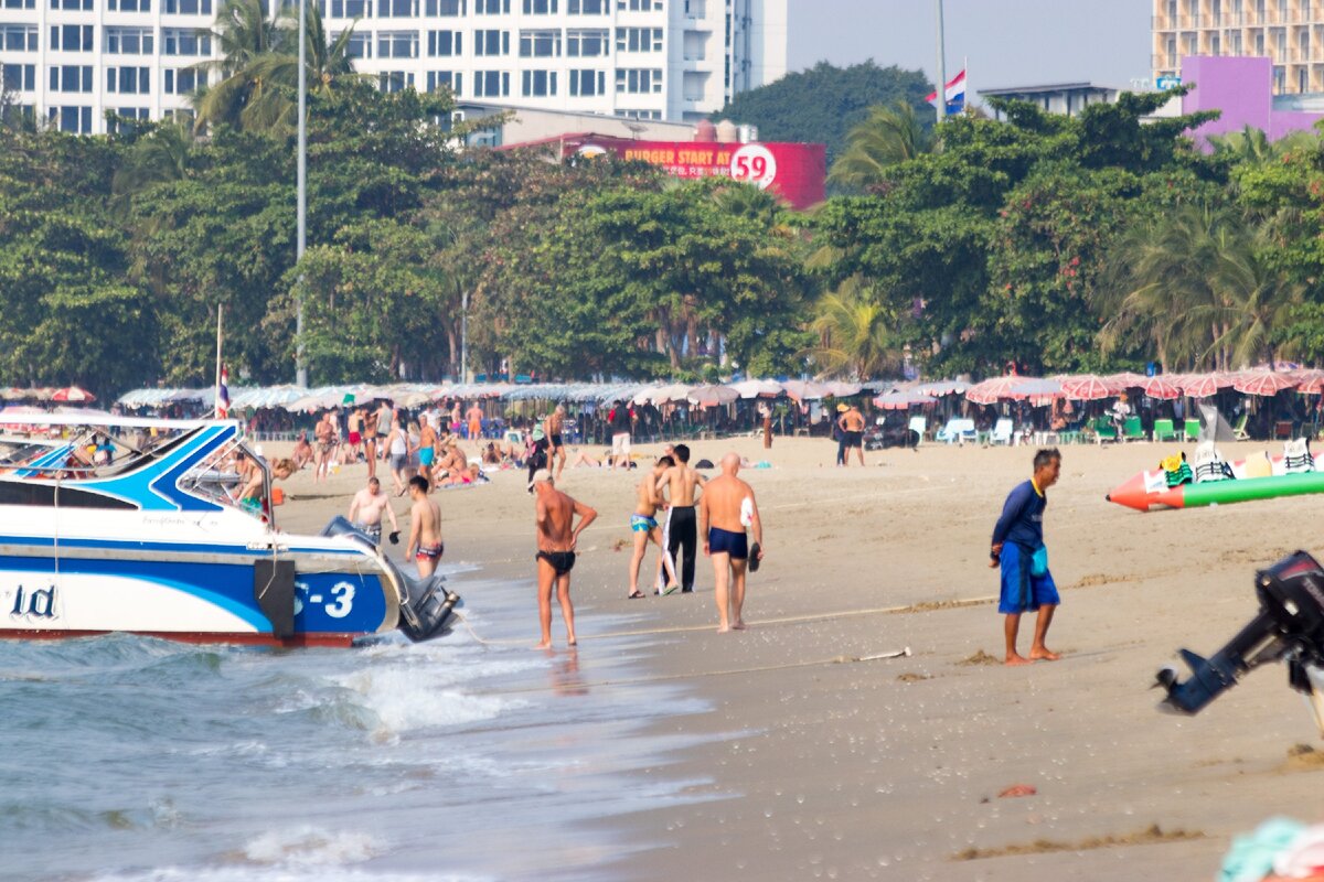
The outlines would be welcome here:
[[[790,70],[818,61],[922,69],[936,81],[933,0],[789,0]],[[947,75],[969,58],[969,89],[1151,75],[1152,0],[945,0]]]

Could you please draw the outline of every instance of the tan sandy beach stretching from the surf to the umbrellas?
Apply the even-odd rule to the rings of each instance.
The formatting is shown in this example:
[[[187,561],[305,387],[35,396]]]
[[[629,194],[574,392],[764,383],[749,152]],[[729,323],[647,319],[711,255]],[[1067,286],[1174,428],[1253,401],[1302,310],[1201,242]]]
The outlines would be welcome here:
[[[1324,764],[1288,751],[1319,734],[1284,668],[1194,718],[1157,713],[1149,685],[1178,647],[1209,653],[1251,618],[1256,566],[1324,550],[1324,500],[1149,514],[1104,502],[1172,447],[1063,450],[1045,530],[1063,588],[1049,644],[1063,659],[1017,669],[996,664],[988,545],[1033,448],[925,444],[838,469],[824,440],[695,443],[695,459],[736,450],[773,464],[741,472],[767,558],[749,578],[751,628],[728,635],[715,633],[707,559],[694,595],[625,599],[636,475],[567,469],[563,489],[601,513],[575,570],[580,656],[602,631],[594,612],[638,615],[658,632],[639,676],[674,677],[712,707],[667,726],[704,743],[639,771],[706,782],[699,799],[617,819],[633,849],[609,877],[1205,879],[1234,833],[1275,813],[1317,820]],[[283,526],[320,526],[361,477],[294,477]],[[448,558],[531,579],[520,473],[440,501]],[[532,644],[532,592],[530,604]],[[903,647],[914,655],[850,661]],[[1037,793],[998,797],[1016,784]]]

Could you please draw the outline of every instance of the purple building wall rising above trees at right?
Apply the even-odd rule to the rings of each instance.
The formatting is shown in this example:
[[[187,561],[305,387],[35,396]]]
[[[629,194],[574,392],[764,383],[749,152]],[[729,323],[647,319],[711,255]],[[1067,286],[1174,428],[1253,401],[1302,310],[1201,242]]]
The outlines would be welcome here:
[[[1201,148],[1207,148],[1205,139],[1210,135],[1239,132],[1246,126],[1262,130],[1272,141],[1324,119],[1324,112],[1295,108],[1298,95],[1274,97],[1270,58],[1188,56],[1181,60],[1181,78],[1193,85],[1181,99],[1182,114],[1222,111],[1222,116],[1192,132]]]

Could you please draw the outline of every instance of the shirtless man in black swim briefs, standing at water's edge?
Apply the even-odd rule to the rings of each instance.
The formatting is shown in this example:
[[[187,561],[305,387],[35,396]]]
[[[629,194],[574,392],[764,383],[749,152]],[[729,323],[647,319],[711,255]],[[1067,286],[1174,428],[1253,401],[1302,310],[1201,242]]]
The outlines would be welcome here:
[[[552,645],[552,586],[565,619],[565,641],[575,645],[575,607],[571,604],[571,570],[575,567],[575,545],[580,533],[597,518],[597,512],[561,493],[545,468],[534,472],[528,483],[534,492],[538,516],[538,620],[543,628],[539,649]],[[579,514],[579,526],[573,526]],[[572,529],[573,528],[573,529]]]

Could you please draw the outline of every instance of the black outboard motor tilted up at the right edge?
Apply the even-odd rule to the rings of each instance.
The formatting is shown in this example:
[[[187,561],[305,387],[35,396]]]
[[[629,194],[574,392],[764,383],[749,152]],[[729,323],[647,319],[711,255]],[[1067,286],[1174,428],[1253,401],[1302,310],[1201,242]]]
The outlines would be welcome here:
[[[1172,665],[1158,670],[1158,685],[1168,693],[1160,709],[1200,713],[1251,668],[1270,661],[1286,661],[1291,686],[1311,693],[1305,668],[1324,668],[1324,569],[1295,551],[1255,574],[1255,596],[1259,612],[1213,657],[1181,651],[1190,678],[1182,682]]]

